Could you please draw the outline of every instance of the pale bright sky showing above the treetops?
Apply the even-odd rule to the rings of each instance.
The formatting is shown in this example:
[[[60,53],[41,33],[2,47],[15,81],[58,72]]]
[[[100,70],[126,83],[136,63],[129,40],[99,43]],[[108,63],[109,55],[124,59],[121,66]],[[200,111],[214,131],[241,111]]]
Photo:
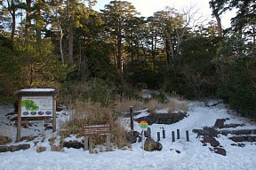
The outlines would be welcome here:
[[[95,10],[99,11],[99,9],[104,9],[105,4],[109,4],[111,0],[98,0],[98,4],[94,7]],[[207,20],[215,20],[212,18],[212,10],[209,6],[209,0],[126,0],[129,3],[132,3],[137,12],[141,13],[141,16],[148,17],[153,16],[154,12],[164,10],[164,7],[170,6],[175,9],[182,11],[185,7],[190,5],[195,6],[196,9],[199,10],[200,13],[203,14],[204,19]],[[198,13],[199,14],[199,13]],[[234,12],[228,12],[225,17],[222,19],[223,27],[230,27],[230,18],[234,17]]]

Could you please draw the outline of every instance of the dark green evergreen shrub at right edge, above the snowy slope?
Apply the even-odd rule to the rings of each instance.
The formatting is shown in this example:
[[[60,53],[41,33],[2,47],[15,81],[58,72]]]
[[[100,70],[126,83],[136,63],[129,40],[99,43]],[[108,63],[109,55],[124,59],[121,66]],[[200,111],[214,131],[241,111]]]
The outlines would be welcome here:
[[[223,98],[236,112],[256,118],[256,56],[252,43],[239,35],[227,37],[220,49],[218,97]]]

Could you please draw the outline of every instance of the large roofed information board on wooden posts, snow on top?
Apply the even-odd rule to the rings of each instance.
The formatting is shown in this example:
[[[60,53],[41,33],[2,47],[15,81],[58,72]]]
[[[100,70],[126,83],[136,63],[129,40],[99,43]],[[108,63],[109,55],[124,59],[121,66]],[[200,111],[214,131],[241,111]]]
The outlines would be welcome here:
[[[56,131],[56,89],[20,89],[14,95],[18,97],[16,142],[20,142],[22,119],[23,123],[51,122],[52,132]]]

